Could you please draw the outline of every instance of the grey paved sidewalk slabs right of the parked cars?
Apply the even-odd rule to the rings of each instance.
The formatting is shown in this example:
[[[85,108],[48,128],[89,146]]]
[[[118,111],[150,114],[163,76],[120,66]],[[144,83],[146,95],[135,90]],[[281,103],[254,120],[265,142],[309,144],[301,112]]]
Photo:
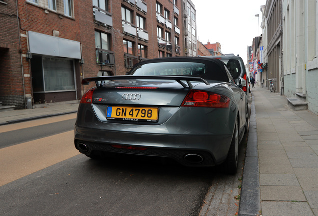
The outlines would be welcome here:
[[[251,91],[262,215],[318,215],[318,116],[288,108],[280,93]]]

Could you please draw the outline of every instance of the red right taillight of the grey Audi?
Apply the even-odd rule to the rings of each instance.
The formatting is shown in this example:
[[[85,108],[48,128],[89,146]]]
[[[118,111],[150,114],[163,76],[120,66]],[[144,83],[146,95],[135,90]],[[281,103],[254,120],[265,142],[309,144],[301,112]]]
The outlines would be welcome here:
[[[188,107],[228,108],[230,99],[221,94],[191,90],[182,103]]]

